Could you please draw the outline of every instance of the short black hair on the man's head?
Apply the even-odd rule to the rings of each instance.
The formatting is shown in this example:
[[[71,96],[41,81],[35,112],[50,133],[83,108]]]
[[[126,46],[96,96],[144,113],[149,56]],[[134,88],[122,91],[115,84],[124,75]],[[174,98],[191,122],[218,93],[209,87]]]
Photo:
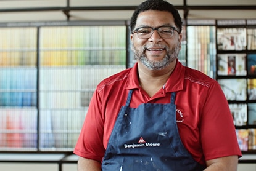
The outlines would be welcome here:
[[[133,15],[131,16],[131,21],[130,21],[131,33],[133,32],[134,27],[136,25],[138,15],[141,12],[144,12],[147,10],[161,10],[161,11],[170,12],[173,15],[174,22],[175,22],[175,25],[178,27],[179,33],[181,33],[182,20],[181,20],[180,14],[172,4],[170,4],[165,0],[147,0],[142,2],[138,7],[136,7],[135,11],[133,12]]]

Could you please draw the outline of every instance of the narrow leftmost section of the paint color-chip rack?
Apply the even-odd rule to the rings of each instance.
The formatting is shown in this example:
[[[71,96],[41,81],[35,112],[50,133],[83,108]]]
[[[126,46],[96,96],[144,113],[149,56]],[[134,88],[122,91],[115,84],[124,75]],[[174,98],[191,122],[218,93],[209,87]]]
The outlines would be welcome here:
[[[0,28],[0,149],[36,150],[35,27]],[[23,144],[24,143],[24,144]]]

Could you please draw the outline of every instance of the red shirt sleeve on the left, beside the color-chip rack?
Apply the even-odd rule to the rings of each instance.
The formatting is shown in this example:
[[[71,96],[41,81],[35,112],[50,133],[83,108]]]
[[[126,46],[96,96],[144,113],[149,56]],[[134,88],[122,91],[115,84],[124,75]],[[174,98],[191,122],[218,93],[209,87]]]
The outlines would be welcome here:
[[[74,153],[78,156],[99,162],[102,161],[105,153],[103,146],[104,120],[101,111],[101,98],[96,90],[91,98],[85,122],[74,149]]]

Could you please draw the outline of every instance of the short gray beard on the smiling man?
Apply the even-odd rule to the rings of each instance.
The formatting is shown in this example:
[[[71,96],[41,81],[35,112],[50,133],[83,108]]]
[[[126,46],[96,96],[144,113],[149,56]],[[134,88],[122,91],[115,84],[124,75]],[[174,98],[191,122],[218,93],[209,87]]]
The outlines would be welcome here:
[[[162,70],[166,66],[170,65],[170,63],[173,62],[176,58],[178,58],[178,54],[180,52],[179,46],[173,47],[173,49],[165,47],[165,50],[167,50],[165,57],[160,61],[151,61],[146,57],[146,47],[143,47],[142,49],[136,49],[134,44],[132,44],[132,50],[134,53],[134,58],[144,64],[149,70]]]

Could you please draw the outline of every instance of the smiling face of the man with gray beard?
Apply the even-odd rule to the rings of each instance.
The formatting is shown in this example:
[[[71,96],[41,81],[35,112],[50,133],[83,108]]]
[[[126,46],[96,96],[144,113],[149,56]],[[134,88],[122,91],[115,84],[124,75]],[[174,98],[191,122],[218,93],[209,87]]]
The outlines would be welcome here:
[[[136,28],[149,26],[175,26],[173,15],[170,12],[148,10],[138,15]],[[138,34],[131,34],[132,49],[136,60],[150,70],[162,70],[178,57],[181,49],[182,35],[174,31],[171,38],[162,38],[157,30],[148,39],[138,38]]]

